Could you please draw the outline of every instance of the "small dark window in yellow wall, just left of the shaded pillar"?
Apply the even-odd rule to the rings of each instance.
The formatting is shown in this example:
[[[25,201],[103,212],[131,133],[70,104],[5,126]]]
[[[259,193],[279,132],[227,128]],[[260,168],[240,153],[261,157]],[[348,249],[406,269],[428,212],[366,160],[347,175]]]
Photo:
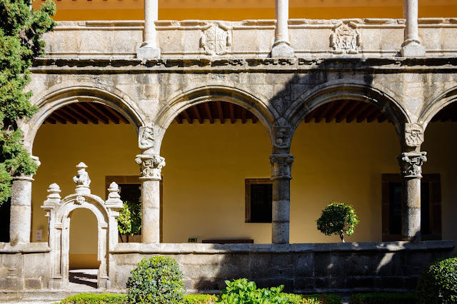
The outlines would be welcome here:
[[[246,178],[246,223],[271,223],[273,182],[269,178]]]

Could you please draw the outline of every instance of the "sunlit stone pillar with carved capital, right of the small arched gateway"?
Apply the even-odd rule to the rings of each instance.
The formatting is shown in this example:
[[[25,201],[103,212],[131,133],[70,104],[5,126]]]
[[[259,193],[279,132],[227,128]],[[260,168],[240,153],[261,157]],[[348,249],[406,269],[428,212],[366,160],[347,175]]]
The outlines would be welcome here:
[[[160,181],[165,159],[140,154],[136,163],[141,166],[141,242],[160,243]]]

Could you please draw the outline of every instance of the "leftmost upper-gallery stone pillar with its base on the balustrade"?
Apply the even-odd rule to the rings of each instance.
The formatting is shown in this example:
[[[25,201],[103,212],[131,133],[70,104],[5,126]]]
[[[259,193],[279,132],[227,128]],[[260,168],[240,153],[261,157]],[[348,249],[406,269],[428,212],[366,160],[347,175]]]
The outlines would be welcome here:
[[[158,0],[144,0],[143,44],[136,49],[136,58],[159,58],[160,49],[156,44],[156,24],[159,19]]]

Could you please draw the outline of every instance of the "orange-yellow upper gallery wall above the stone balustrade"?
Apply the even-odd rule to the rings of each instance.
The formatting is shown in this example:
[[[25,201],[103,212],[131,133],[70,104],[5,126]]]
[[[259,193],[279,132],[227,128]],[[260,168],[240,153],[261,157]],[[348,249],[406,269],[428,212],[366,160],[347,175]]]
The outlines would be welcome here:
[[[33,4],[36,9],[42,1]],[[55,0],[55,20],[143,20],[144,0]],[[291,19],[402,18],[402,0],[290,0]],[[419,17],[456,17],[454,0],[419,0]],[[274,19],[273,0],[159,0],[161,20]]]

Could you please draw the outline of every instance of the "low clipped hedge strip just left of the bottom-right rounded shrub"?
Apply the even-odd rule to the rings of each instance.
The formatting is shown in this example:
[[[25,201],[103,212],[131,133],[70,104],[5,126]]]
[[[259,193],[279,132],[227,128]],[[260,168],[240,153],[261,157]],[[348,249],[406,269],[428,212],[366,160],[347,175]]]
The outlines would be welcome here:
[[[353,293],[351,304],[416,304],[416,293]]]

